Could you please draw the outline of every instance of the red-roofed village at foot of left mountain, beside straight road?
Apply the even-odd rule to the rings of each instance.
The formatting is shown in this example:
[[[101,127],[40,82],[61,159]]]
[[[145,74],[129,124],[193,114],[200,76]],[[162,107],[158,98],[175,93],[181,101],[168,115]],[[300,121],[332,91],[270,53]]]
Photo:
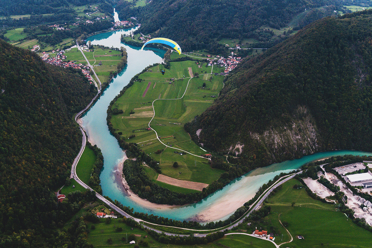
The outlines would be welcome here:
[[[74,62],[62,61],[62,59],[66,59],[66,56],[63,55],[63,53],[65,51],[60,50],[60,49],[52,51],[52,53],[55,53],[55,52],[58,52],[58,53],[57,53],[57,56],[55,56],[53,58],[49,58],[50,55],[46,52],[43,52],[42,60],[44,60],[45,62],[47,62],[51,65],[57,65],[57,66],[61,66],[61,67],[64,67],[64,68],[72,67],[74,69],[81,70],[81,72],[83,72],[84,76],[90,81],[89,83],[92,84],[93,78],[90,75],[88,65],[83,65],[82,63],[76,64]]]

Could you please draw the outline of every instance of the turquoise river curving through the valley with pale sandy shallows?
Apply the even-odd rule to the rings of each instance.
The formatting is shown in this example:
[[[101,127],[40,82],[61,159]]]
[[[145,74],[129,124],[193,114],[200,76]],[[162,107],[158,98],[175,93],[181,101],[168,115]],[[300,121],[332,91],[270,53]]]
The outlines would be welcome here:
[[[87,39],[92,41],[93,45],[113,46],[115,48],[124,46],[128,52],[128,65],[112,80],[96,104],[82,117],[83,128],[87,132],[89,141],[96,144],[102,150],[104,157],[104,168],[100,175],[103,195],[109,196],[113,200],[116,199],[123,205],[134,208],[134,211],[137,212],[153,213],[154,215],[180,221],[191,219],[195,216],[199,216],[203,220],[201,222],[219,221],[227,219],[236,209],[250,200],[260,186],[281,172],[289,172],[298,169],[304,163],[330,156],[343,154],[372,155],[372,153],[359,151],[316,153],[302,157],[301,159],[285,161],[253,170],[235,179],[223,189],[192,205],[162,208],[161,206],[145,206],[136,203],[132,198],[126,196],[121,183],[116,180],[118,174],[116,172],[117,166],[122,161],[125,153],[120,149],[118,142],[108,130],[106,125],[106,110],[110,101],[129,83],[129,80],[146,66],[161,62],[165,51],[159,49],[140,51],[140,48],[122,44],[120,42],[121,35],[129,34],[133,30],[135,29],[102,33]],[[113,68],[113,71],[115,69]]]

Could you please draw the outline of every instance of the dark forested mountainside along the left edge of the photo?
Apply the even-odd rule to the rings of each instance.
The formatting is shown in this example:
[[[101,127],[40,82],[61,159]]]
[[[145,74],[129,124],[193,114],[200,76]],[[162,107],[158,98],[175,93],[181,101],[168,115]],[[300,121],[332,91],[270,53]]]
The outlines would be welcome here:
[[[78,71],[3,40],[0,61],[0,247],[83,247],[83,229],[55,228],[91,196],[75,193],[58,204],[55,191],[81,146],[73,114],[97,90]]]

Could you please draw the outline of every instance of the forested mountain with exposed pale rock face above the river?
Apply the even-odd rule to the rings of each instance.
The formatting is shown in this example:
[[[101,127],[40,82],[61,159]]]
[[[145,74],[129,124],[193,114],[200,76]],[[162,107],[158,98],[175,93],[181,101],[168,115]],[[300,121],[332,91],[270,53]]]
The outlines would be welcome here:
[[[371,151],[371,21],[371,10],[327,17],[246,59],[186,130],[251,168],[316,151]]]

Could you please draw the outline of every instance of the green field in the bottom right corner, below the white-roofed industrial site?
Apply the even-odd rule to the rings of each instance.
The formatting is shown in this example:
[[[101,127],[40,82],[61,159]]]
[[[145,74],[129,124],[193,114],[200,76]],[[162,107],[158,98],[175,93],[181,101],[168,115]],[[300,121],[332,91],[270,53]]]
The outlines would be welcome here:
[[[304,188],[294,189],[293,186],[299,183],[295,179],[284,183],[278,192],[265,201],[265,205],[271,207],[269,216],[252,224],[279,234],[275,242],[280,244],[289,241],[290,237],[278,218],[282,223],[288,222],[287,229],[293,236],[293,241],[283,247],[369,247],[370,232],[348,220],[344,213],[337,211],[336,205],[312,199]],[[305,239],[298,239],[298,235]],[[356,236],[358,239],[354,238]]]

